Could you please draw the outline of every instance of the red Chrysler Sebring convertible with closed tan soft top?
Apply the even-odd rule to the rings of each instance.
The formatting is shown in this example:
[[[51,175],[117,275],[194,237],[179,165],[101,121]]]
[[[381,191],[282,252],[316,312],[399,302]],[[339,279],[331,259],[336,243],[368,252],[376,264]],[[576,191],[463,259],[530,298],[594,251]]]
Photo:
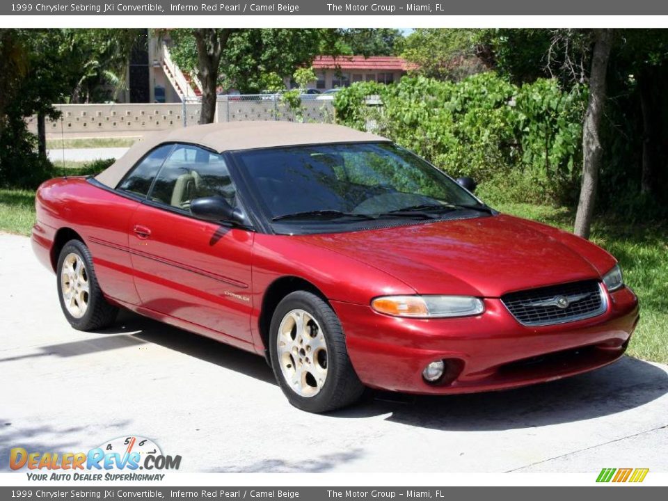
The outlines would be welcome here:
[[[202,125],[42,184],[32,241],[74,328],[121,307],[252,351],[305,411],[620,358],[639,312],[614,257],[461,184],[346,127]]]

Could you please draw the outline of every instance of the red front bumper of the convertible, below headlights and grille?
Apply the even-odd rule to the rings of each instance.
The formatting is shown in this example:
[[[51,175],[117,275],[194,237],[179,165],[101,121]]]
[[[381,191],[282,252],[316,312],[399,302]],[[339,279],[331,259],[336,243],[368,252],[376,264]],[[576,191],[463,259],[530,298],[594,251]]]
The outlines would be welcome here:
[[[603,367],[623,355],[639,319],[628,287],[608,294],[603,315],[541,327],[519,324],[500,299],[485,299],[478,317],[456,319],[402,319],[367,305],[332,305],[365,385],[425,394],[501,390]],[[422,369],[434,360],[446,360],[450,370],[431,384]]]

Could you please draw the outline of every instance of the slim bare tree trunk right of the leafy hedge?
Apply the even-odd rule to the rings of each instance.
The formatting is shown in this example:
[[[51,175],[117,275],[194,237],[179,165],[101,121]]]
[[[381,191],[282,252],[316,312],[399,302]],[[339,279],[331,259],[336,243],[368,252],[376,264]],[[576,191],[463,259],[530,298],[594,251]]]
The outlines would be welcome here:
[[[612,30],[594,30],[594,54],[589,75],[589,102],[582,127],[582,186],[578,212],[575,214],[575,234],[589,238],[594,216],[598,172],[601,170],[601,118],[605,105],[605,74],[612,48]]]

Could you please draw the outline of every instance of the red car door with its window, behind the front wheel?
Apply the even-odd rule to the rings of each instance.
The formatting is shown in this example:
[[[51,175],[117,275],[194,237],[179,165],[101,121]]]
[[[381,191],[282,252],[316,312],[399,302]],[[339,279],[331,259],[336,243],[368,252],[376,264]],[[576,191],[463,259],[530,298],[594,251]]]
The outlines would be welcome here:
[[[220,154],[175,145],[130,228],[134,283],[143,308],[244,342],[250,334],[254,233],[193,217],[195,198],[238,206]]]

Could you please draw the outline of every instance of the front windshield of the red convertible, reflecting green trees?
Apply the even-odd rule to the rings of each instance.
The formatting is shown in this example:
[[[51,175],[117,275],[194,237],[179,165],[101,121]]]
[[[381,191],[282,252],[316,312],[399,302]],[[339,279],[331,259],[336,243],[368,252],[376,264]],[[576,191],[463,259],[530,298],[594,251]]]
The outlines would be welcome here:
[[[486,206],[415,154],[390,143],[239,152],[267,218],[280,224],[355,225],[371,219],[450,217]]]

